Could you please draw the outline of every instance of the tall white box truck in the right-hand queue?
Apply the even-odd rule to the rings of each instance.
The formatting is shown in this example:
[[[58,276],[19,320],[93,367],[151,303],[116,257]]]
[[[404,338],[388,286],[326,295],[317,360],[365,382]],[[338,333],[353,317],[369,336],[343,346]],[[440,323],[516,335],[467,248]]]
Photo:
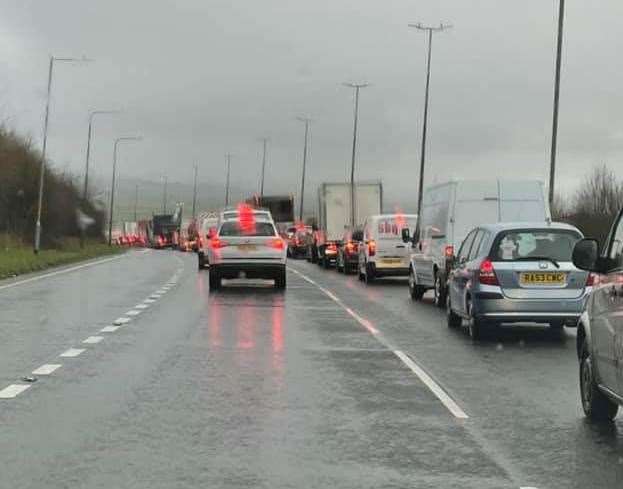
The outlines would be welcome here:
[[[383,208],[381,182],[355,184],[355,227],[361,227],[366,217],[380,214]],[[312,261],[329,268],[335,264],[337,248],[350,228],[350,183],[323,183],[318,188],[318,229],[310,244]]]

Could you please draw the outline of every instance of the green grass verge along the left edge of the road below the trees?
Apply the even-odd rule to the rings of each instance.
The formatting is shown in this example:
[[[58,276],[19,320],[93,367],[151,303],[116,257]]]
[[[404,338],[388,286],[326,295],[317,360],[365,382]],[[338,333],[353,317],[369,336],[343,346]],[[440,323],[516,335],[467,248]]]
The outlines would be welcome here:
[[[125,251],[118,246],[109,247],[101,241],[91,240],[80,248],[79,240],[67,239],[58,248],[41,250],[35,255],[32,247],[7,236],[3,238],[0,240],[0,279]]]

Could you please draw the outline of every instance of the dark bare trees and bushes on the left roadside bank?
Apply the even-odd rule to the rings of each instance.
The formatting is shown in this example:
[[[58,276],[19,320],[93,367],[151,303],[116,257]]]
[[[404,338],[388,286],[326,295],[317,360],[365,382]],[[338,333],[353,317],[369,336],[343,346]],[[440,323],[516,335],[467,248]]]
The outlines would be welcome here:
[[[41,153],[32,142],[6,127],[0,127],[0,233],[8,233],[24,243],[32,242],[37,217]],[[41,213],[42,243],[55,246],[62,238],[79,236],[78,210],[95,223],[90,237],[101,237],[105,212],[92,200],[83,202],[75,177],[46,167]]]

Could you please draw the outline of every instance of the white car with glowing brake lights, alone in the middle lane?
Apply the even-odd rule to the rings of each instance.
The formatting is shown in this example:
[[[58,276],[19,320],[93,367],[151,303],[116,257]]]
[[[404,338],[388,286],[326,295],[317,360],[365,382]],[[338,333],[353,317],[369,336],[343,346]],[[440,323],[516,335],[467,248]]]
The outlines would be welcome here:
[[[270,214],[249,208],[227,216],[208,243],[210,289],[219,289],[224,278],[273,279],[277,289],[285,289],[286,253]]]

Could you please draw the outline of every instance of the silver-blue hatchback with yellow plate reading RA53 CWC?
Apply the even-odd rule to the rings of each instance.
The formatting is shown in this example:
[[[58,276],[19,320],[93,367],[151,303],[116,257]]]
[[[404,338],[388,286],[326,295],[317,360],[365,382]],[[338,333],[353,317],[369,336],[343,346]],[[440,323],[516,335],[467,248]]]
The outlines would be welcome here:
[[[576,326],[593,275],[571,262],[582,238],[562,223],[480,226],[465,238],[448,278],[448,326],[466,319],[472,338],[501,323]]]

